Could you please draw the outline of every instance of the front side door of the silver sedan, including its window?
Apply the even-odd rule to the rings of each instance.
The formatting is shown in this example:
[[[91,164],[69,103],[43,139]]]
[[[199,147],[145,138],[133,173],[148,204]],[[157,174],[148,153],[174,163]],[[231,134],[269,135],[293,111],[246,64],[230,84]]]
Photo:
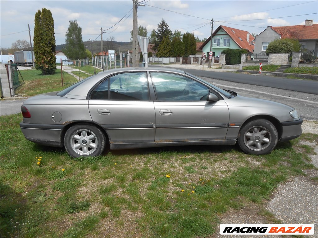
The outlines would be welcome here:
[[[155,142],[225,140],[229,109],[207,101],[209,88],[186,76],[151,72],[156,101]]]

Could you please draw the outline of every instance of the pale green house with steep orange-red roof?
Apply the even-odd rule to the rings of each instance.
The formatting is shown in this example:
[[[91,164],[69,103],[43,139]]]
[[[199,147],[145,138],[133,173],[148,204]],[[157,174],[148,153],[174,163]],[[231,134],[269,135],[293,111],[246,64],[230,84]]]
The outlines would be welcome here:
[[[213,56],[219,56],[226,49],[246,49],[253,54],[254,37],[245,30],[219,26],[212,34]],[[211,36],[199,47],[207,56],[210,52]]]

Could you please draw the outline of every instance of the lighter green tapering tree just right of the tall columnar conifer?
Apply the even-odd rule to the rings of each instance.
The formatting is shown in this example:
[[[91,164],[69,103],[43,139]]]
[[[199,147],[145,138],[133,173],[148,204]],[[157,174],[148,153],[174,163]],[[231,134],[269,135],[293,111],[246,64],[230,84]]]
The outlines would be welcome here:
[[[87,54],[82,40],[82,28],[79,27],[76,19],[74,21],[70,21],[70,25],[65,36],[65,43],[67,45],[64,53],[67,58],[71,60],[85,58]]]

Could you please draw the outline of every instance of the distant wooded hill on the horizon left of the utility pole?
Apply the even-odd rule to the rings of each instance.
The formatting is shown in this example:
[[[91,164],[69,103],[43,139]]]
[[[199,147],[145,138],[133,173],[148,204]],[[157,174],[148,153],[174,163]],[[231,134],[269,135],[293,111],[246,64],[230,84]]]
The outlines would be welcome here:
[[[92,46],[89,41],[85,41],[84,45],[87,47],[89,51],[93,51],[93,54],[97,54],[101,52],[101,41],[92,41]],[[115,53],[118,54],[120,52],[127,53],[128,50],[132,49],[132,43],[131,42],[118,42],[118,41],[104,41],[104,51],[108,50],[115,50]],[[57,45],[55,47],[55,50],[61,50],[63,51],[63,47],[66,47],[66,44]]]

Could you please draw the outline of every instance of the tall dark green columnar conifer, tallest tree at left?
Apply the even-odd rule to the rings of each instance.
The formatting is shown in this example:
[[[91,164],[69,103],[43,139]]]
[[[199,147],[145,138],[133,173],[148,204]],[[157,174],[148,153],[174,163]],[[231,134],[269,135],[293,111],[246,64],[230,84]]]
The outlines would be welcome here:
[[[55,74],[55,36],[52,12],[43,8],[34,17],[34,57],[35,68],[44,75]]]

